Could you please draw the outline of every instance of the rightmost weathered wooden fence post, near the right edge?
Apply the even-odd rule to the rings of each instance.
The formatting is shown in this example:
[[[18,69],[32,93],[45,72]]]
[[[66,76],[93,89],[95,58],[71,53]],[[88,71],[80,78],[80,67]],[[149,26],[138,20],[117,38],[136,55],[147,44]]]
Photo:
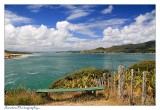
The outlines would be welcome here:
[[[146,105],[146,72],[143,72],[142,105]]]

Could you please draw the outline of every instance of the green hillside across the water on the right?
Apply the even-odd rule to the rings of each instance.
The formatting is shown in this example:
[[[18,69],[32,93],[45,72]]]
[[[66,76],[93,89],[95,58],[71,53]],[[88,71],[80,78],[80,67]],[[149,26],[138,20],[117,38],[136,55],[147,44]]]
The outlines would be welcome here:
[[[155,53],[155,41],[117,45],[110,48],[99,47],[93,50],[83,50],[81,53]]]

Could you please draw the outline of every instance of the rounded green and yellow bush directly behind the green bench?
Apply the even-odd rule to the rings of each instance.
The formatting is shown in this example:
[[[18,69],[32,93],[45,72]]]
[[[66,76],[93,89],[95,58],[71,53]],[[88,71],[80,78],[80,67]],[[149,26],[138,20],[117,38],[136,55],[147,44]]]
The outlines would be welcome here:
[[[103,73],[110,74],[108,70],[104,69],[85,68],[54,81],[49,88],[95,87],[94,79],[101,78]]]

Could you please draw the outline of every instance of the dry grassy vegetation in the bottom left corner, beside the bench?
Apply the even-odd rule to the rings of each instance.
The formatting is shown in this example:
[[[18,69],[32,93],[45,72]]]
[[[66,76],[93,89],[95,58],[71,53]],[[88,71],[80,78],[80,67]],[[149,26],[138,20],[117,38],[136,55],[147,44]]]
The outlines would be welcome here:
[[[41,105],[47,102],[49,99],[44,94],[37,94],[24,86],[5,92],[5,105]]]

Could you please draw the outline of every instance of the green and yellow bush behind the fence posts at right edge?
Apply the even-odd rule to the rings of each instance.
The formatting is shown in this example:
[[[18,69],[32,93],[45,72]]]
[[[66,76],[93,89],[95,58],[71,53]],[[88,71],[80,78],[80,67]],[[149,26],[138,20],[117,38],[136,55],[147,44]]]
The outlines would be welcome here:
[[[138,95],[142,89],[142,73],[145,71],[146,72],[146,87],[147,87],[147,94],[155,98],[155,60],[146,60],[140,63],[137,63],[131,67],[129,67],[126,72],[125,72],[125,81],[126,81],[126,86],[129,85],[129,82],[131,80],[130,78],[130,70],[134,69],[135,74],[134,74],[134,89],[136,91],[136,94]]]

